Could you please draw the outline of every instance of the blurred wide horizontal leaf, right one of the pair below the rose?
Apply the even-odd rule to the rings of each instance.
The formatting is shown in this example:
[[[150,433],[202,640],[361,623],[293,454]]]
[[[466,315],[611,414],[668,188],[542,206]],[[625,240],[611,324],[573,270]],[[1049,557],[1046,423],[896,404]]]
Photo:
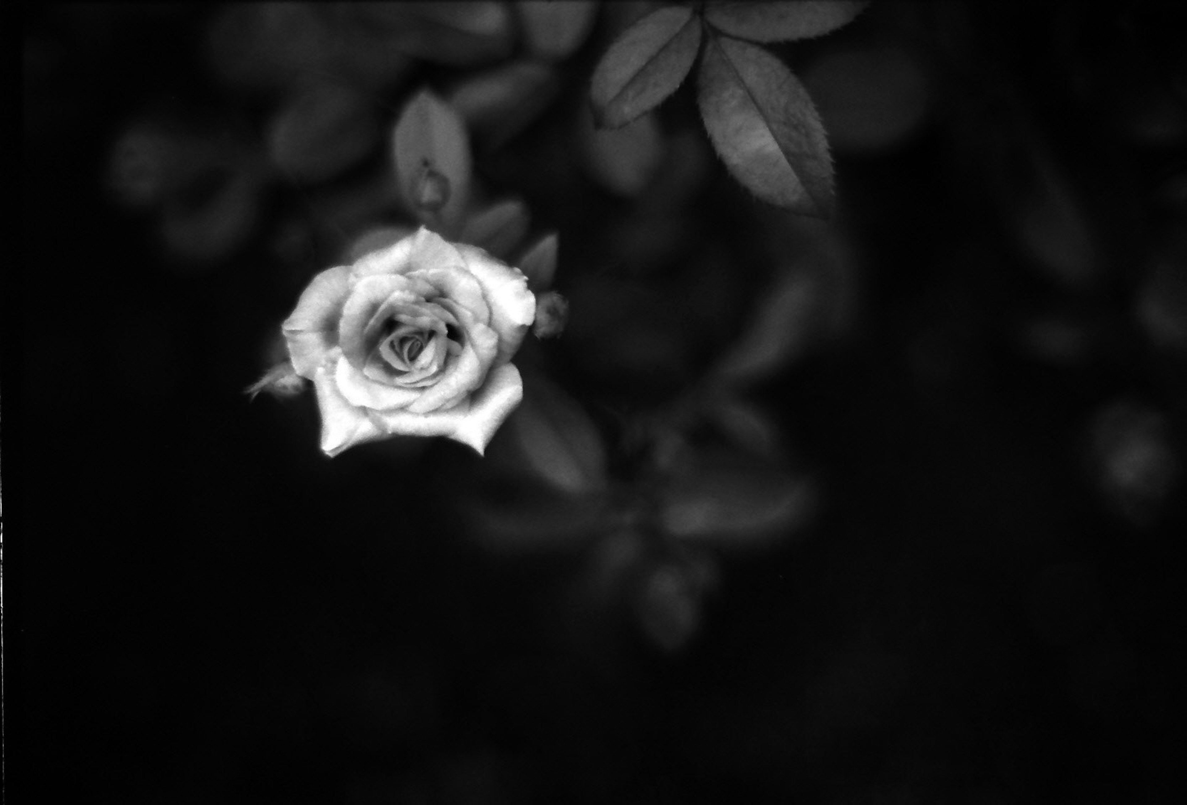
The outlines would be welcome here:
[[[812,513],[806,478],[736,452],[687,456],[660,496],[664,530],[690,543],[747,550],[788,538]]]

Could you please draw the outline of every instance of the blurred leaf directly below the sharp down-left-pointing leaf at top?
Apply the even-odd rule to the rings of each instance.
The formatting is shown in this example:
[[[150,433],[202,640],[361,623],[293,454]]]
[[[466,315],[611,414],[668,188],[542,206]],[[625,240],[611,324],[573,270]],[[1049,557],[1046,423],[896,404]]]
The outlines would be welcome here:
[[[594,128],[588,109],[578,115],[582,165],[602,187],[634,198],[652,184],[664,161],[665,143],[655,117],[639,117],[616,129]]]

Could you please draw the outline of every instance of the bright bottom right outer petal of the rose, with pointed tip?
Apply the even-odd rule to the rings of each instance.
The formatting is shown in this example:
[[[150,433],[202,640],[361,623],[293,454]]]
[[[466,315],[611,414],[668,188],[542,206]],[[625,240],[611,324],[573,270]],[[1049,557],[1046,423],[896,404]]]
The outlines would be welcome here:
[[[499,427],[523,400],[523,382],[512,364],[493,369],[487,382],[468,401],[446,410],[411,414],[406,410],[374,414],[392,435],[449,436],[481,455]]]

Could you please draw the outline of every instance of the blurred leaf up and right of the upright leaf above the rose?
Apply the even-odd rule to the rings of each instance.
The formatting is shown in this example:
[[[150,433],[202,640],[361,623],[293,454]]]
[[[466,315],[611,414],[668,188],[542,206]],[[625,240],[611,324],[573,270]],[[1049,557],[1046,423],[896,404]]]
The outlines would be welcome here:
[[[560,89],[547,64],[516,62],[468,77],[447,94],[466,126],[489,148],[497,148],[539,117]]]

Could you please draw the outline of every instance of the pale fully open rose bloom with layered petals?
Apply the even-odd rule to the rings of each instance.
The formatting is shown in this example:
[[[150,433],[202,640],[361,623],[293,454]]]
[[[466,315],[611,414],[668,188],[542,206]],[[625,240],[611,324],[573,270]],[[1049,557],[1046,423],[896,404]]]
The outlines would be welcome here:
[[[481,454],[523,397],[509,360],[534,315],[518,268],[421,228],[315,276],[281,330],[328,455],[394,435]]]

